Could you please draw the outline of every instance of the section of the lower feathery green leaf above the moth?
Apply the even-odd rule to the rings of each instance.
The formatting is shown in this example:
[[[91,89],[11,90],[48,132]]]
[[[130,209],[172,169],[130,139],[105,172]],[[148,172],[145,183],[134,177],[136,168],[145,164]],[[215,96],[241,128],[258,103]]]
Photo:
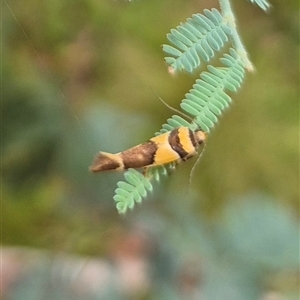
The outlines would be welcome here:
[[[209,130],[218,121],[218,116],[226,109],[231,98],[224,90],[236,92],[243,82],[245,70],[234,49],[230,54],[224,54],[220,59],[224,67],[207,66],[209,72],[202,72],[201,79],[197,79],[193,88],[185,95],[181,108],[194,119],[192,124],[179,116],[173,116],[162,126],[160,133],[170,131],[179,126],[188,126],[191,129],[200,127]]]

